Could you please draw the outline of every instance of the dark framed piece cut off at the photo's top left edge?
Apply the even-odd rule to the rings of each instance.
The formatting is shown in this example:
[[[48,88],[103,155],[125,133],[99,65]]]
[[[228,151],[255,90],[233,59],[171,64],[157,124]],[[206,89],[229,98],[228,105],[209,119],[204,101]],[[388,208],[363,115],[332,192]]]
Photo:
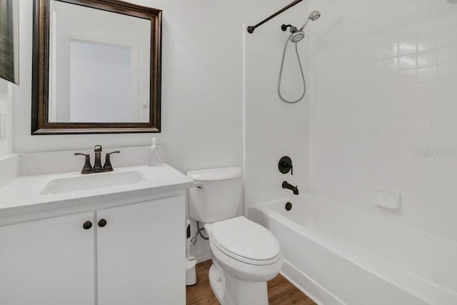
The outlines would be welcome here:
[[[19,84],[19,1],[0,0],[0,77]]]

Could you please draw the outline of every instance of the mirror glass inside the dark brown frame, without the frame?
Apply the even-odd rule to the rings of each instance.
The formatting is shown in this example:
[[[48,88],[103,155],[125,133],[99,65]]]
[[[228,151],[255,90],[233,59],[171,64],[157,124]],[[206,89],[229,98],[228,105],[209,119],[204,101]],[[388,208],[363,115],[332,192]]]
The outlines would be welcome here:
[[[49,122],[149,122],[151,21],[50,1]]]

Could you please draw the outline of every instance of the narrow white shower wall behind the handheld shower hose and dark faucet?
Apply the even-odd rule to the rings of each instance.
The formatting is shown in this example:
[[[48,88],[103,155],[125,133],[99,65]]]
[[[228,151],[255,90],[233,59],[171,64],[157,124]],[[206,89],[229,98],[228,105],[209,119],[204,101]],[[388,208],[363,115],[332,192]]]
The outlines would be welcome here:
[[[280,9],[278,3],[258,6],[260,14],[249,17],[252,24]],[[258,27],[253,34],[243,29],[244,46],[244,203],[248,207],[291,195],[282,189],[284,180],[298,186],[301,194],[308,190],[308,96],[296,104],[286,104],[278,96],[278,76],[284,44],[290,33],[281,24],[301,26],[309,11],[306,1]],[[308,29],[319,21],[308,24]],[[250,25],[250,24],[248,24]],[[246,25],[247,26],[247,25]],[[298,42],[306,81],[308,77],[308,39]],[[285,99],[298,99],[303,90],[293,43],[288,44],[284,62],[281,93]],[[281,156],[293,161],[293,176],[278,171]]]

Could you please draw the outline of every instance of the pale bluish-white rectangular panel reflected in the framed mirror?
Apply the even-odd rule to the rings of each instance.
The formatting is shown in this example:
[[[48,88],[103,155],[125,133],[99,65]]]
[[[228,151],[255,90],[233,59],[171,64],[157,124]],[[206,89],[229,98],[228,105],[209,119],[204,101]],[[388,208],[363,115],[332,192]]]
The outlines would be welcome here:
[[[139,101],[133,96],[138,90],[132,89],[132,49],[86,41],[71,41],[70,49],[70,121],[140,121]]]

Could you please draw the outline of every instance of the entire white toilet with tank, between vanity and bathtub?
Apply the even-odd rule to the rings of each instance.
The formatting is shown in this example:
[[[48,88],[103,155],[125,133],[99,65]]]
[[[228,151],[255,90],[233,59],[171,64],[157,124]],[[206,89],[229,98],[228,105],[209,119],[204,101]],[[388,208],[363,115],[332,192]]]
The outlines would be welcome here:
[[[278,240],[241,215],[241,169],[201,169],[187,176],[191,217],[204,224],[213,265],[209,282],[223,305],[268,304],[266,281],[283,265]]]

